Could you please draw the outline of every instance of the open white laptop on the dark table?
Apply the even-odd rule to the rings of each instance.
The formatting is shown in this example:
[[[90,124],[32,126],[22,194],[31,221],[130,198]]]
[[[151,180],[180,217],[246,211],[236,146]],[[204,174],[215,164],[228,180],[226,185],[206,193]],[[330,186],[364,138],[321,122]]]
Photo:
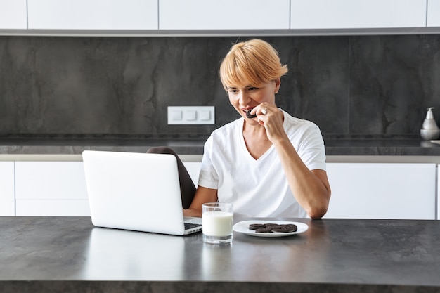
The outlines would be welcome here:
[[[174,155],[84,150],[84,173],[94,226],[169,235],[202,230],[183,216]]]

